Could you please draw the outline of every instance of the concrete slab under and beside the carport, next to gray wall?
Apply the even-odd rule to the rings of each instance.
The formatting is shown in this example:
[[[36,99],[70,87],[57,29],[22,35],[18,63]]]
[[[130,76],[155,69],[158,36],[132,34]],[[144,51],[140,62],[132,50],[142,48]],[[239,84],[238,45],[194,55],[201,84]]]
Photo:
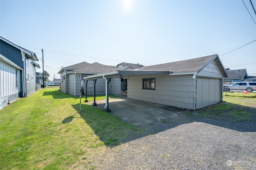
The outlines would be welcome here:
[[[105,110],[105,100],[96,101],[98,109]],[[87,104],[92,105],[93,102]],[[184,110],[172,106],[154,104],[126,97],[109,99],[110,114],[136,127],[152,126],[159,122],[170,122],[184,115]]]

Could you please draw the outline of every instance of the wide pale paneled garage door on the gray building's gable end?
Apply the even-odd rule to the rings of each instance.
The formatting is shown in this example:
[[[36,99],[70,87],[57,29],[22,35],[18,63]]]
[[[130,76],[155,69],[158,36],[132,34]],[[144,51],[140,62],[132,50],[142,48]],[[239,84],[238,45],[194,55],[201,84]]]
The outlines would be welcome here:
[[[222,98],[222,79],[197,78],[196,109],[215,104]]]

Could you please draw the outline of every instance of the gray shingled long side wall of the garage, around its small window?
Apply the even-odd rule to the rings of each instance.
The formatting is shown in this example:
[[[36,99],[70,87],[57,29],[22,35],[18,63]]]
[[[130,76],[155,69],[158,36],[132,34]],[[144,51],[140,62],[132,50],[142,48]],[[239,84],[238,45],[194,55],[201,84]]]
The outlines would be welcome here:
[[[188,109],[195,108],[196,80],[193,75],[139,76],[128,79],[127,98]],[[142,89],[142,78],[156,78],[156,90]]]

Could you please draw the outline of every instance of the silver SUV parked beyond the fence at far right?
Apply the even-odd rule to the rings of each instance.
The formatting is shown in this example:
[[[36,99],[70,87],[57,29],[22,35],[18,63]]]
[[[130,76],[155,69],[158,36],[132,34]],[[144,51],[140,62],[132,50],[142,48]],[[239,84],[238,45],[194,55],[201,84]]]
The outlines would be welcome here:
[[[228,86],[230,90],[246,90],[252,92],[256,90],[256,82],[236,82]]]

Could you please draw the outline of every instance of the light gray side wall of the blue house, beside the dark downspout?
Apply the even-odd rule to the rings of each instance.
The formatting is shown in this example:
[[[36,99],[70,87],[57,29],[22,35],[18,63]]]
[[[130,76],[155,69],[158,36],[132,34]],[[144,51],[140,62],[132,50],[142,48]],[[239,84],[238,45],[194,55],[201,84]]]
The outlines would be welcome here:
[[[31,60],[28,58],[26,59],[26,74],[28,74],[28,82],[26,81],[26,96],[30,96],[36,92],[36,68],[31,64]]]

